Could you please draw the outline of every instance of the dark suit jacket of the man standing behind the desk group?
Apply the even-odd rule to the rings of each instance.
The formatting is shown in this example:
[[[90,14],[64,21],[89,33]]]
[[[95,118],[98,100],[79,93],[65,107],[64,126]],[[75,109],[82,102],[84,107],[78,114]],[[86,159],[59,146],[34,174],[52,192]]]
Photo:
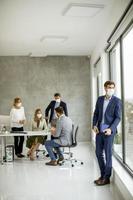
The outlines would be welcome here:
[[[47,118],[49,115],[49,111],[50,111],[50,118],[49,118],[49,122],[51,122],[52,118],[53,118],[53,114],[54,114],[54,109],[55,109],[55,104],[56,101],[51,101],[50,104],[48,105],[48,107],[45,110],[45,117]],[[60,106],[63,108],[64,110],[64,114],[66,116],[68,116],[68,111],[67,111],[67,105],[65,102],[61,101],[60,102]]]

